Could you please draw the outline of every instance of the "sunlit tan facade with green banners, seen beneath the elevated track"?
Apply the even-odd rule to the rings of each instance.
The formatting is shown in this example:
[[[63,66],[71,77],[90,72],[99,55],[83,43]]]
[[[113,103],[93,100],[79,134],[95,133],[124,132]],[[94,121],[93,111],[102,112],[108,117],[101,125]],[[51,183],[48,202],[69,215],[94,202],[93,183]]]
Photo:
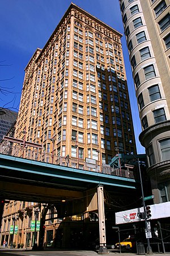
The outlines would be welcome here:
[[[40,216],[45,207],[40,203],[22,201],[10,201],[5,204],[0,245],[3,246],[6,241],[7,247],[31,248],[35,246],[39,242]],[[44,247],[54,246],[52,241],[56,237],[59,224],[63,221],[63,219],[57,218],[56,213],[52,213],[52,209],[48,210],[47,216],[48,218],[52,217],[52,220],[46,221],[44,225]]]

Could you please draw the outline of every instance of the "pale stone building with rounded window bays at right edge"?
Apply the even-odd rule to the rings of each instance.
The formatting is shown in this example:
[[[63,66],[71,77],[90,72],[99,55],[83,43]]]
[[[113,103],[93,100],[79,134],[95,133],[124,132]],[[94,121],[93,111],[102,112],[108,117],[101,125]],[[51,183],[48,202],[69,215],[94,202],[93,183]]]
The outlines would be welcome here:
[[[169,0],[120,0],[154,203],[170,200]]]

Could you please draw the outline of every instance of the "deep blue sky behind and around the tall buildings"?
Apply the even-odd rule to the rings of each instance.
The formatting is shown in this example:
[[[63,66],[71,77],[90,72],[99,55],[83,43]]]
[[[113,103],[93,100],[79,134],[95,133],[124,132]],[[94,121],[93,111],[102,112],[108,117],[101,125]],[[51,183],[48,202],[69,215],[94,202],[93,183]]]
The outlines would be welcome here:
[[[59,20],[70,6],[69,0],[1,0],[0,86],[11,88],[12,93],[0,94],[0,106],[19,109],[24,80],[24,68],[36,48],[43,48]],[[73,3],[96,16],[124,35],[118,0],[74,0]],[[125,36],[122,37],[126,76],[133,114],[137,151],[145,152],[138,142],[141,133],[137,100],[131,76]],[[12,102],[11,102],[12,101]]]

